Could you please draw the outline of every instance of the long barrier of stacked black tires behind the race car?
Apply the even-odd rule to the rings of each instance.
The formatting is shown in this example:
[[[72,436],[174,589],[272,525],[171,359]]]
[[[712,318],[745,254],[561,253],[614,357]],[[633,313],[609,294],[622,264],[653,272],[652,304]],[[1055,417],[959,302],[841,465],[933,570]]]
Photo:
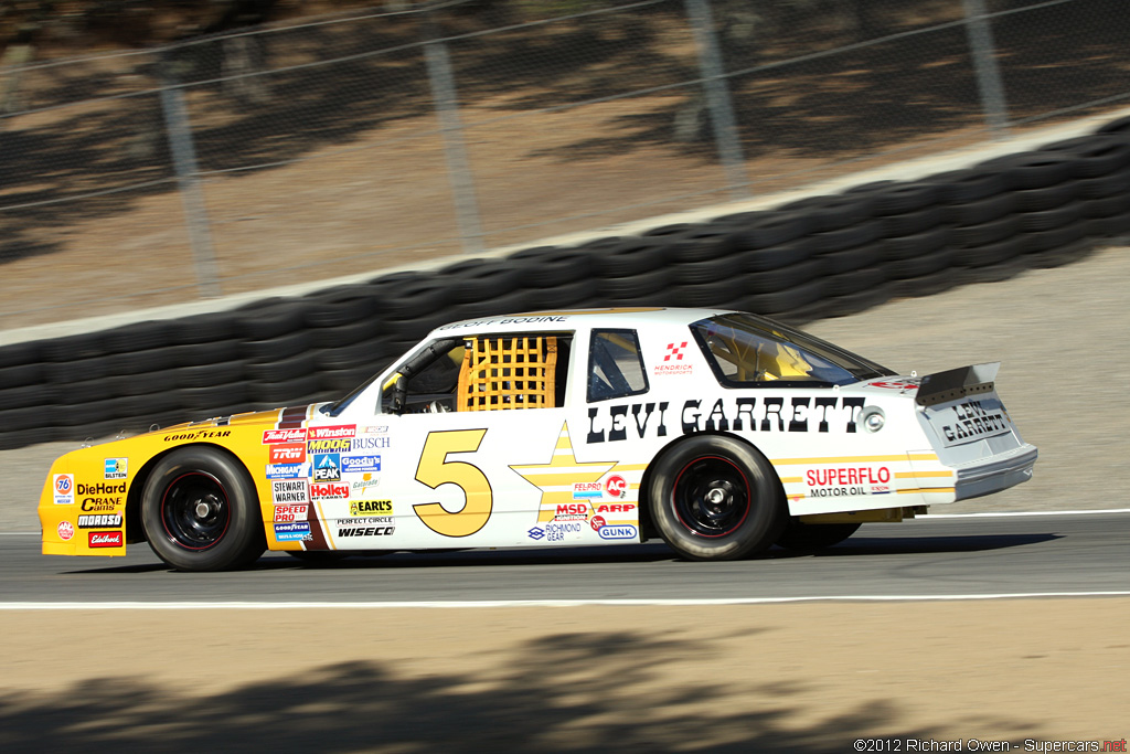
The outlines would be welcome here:
[[[1130,233],[1130,119],[914,182],[0,347],[0,449],[328,400],[445,322],[583,306],[790,323],[1010,278]]]

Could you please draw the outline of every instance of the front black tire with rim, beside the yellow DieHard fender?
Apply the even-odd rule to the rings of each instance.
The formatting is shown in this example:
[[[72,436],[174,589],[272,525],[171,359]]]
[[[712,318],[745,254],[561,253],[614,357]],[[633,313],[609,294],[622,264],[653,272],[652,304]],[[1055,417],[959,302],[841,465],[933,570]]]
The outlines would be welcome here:
[[[177,571],[226,571],[267,549],[251,475],[217,448],[186,445],[154,466],[141,493],[153,552]]]

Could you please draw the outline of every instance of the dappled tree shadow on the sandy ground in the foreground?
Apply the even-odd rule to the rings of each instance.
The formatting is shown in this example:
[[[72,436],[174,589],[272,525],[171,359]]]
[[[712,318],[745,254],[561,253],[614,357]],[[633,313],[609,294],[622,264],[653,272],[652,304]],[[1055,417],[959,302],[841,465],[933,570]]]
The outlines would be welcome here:
[[[312,635],[289,651],[316,653],[321,641]],[[101,638],[60,651],[73,652],[80,664],[85,651],[112,645]],[[288,673],[289,655],[280,652],[276,677],[215,694],[138,676],[87,678],[50,694],[9,688],[0,694],[0,742],[5,752],[50,745],[82,752],[806,753],[850,751],[852,731],[889,730],[898,713],[886,701],[841,716],[814,714],[802,708],[809,688],[799,683],[736,686],[729,678],[687,677],[672,685],[660,673],[666,659],[716,650],[632,631],[527,640],[496,658],[505,669],[489,679],[454,670],[406,677],[390,659],[393,638],[384,645],[380,659],[301,673]],[[209,662],[191,650],[181,656],[172,644],[169,661]],[[799,728],[798,713],[819,722]]]

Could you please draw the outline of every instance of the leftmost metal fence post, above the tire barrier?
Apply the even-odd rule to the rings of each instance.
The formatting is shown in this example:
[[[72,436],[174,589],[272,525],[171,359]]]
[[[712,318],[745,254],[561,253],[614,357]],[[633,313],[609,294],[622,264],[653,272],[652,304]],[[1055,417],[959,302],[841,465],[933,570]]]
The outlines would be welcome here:
[[[168,146],[173,153],[173,168],[181,190],[184,217],[189,225],[189,244],[197,267],[197,284],[205,298],[220,295],[216,254],[212,251],[208,210],[200,191],[197,171],[197,153],[192,145],[192,127],[184,107],[184,95],[180,84],[168,70],[166,61],[160,63],[160,109],[168,131]]]

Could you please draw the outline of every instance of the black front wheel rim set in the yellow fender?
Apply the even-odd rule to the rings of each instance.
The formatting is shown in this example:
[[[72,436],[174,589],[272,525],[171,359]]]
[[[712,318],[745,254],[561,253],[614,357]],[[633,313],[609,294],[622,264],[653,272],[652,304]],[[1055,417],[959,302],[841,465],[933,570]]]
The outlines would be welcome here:
[[[224,538],[232,522],[232,505],[219,479],[191,471],[165,488],[160,519],[174,544],[185,549],[208,549]]]

